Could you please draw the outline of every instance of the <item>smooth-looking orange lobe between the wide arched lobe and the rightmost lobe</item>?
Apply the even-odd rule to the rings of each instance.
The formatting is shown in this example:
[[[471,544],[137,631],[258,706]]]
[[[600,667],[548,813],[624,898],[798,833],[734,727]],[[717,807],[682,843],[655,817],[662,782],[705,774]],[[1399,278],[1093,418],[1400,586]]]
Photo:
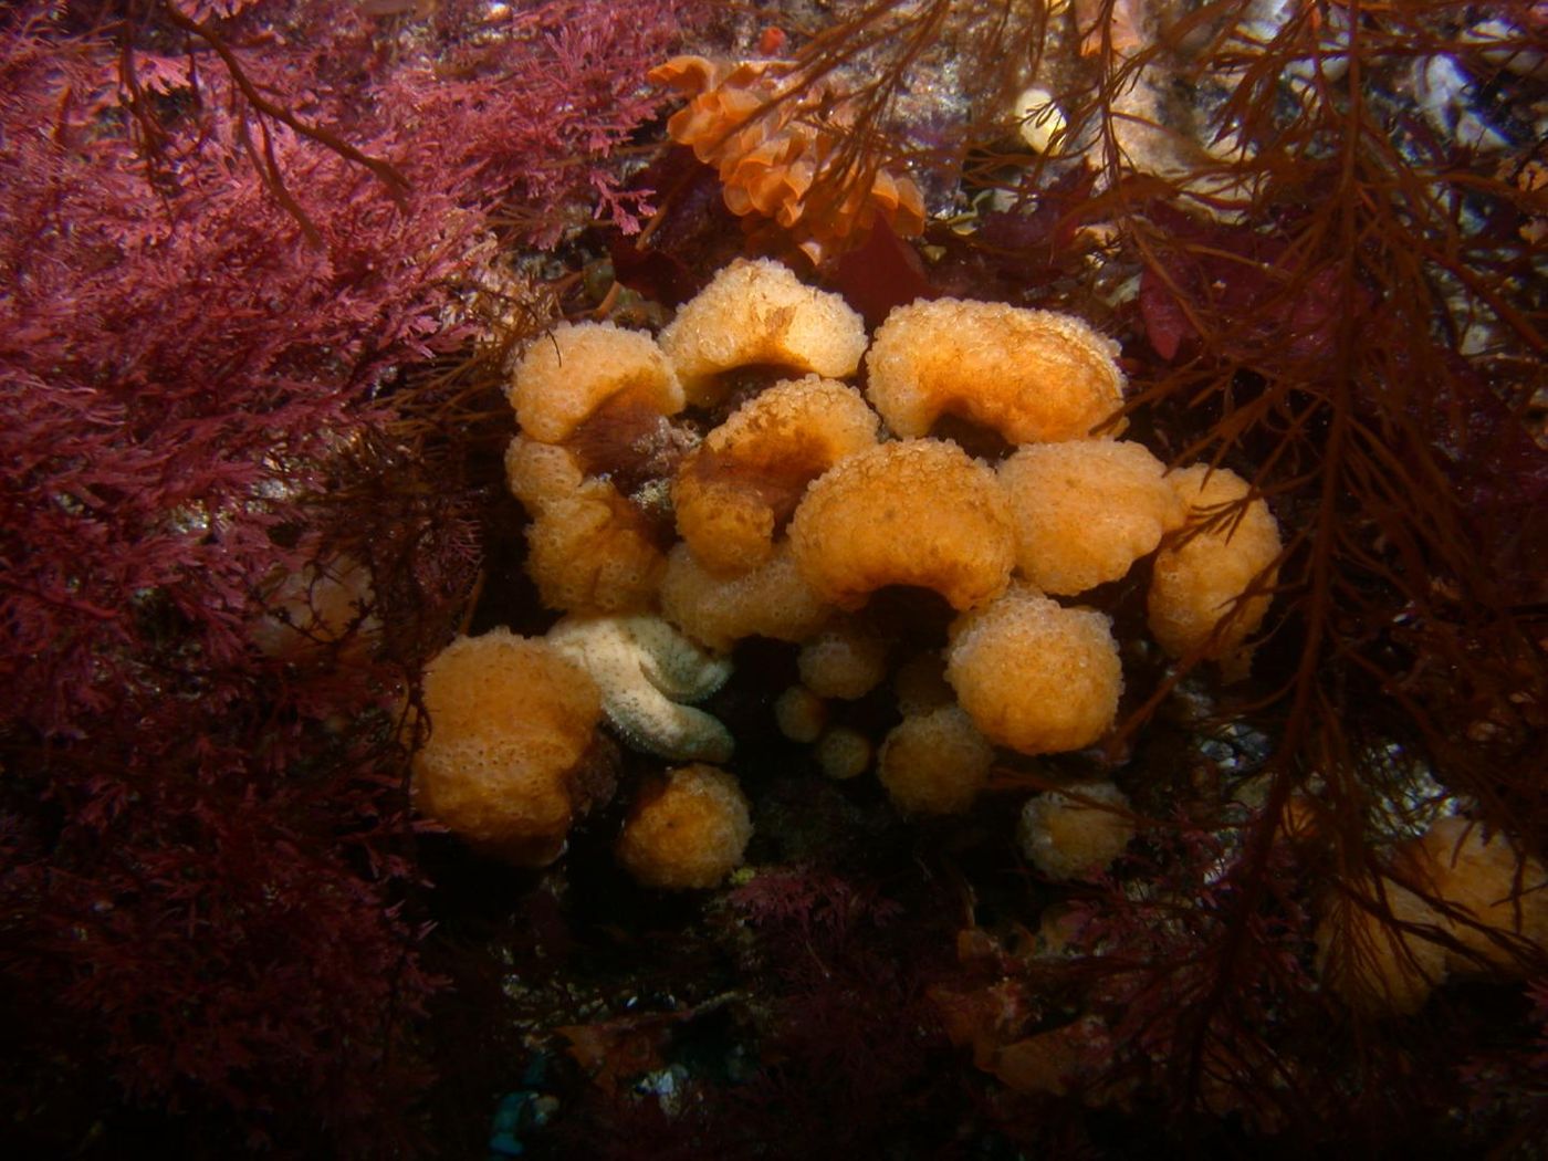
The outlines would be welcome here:
[[[1017,568],[1059,596],[1118,580],[1187,514],[1166,464],[1127,440],[1028,444],[998,472],[1015,519]]]

